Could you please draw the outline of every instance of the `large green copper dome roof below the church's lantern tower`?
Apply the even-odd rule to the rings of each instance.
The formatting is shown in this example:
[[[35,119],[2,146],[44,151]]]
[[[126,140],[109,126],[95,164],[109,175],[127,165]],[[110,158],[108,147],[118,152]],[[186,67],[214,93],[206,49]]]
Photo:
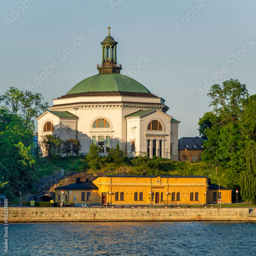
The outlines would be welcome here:
[[[68,93],[132,92],[151,93],[141,83],[121,74],[98,74],[77,83]]]

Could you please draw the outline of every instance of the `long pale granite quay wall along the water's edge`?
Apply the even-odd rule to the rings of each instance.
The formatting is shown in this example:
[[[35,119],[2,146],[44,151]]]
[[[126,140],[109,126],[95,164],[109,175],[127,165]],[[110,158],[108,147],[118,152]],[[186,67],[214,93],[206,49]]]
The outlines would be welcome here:
[[[0,214],[4,222],[4,207]],[[8,207],[8,223],[75,221],[256,221],[256,215],[249,208]]]

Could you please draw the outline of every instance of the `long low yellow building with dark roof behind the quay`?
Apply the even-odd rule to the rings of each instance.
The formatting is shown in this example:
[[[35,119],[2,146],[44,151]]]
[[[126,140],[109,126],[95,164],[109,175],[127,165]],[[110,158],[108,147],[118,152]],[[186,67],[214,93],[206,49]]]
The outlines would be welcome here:
[[[147,175],[108,175],[92,182],[77,178],[76,183],[55,189],[56,201],[90,201],[91,205],[206,204],[216,203],[218,197],[222,203],[231,203],[232,191],[225,187],[218,190],[205,176]]]

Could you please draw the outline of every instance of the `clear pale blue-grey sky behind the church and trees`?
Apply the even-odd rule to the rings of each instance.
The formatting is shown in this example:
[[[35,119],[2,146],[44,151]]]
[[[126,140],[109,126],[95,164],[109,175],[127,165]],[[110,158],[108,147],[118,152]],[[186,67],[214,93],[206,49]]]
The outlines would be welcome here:
[[[209,84],[239,79],[256,94],[255,0],[2,0],[0,6],[0,95],[11,86],[31,89],[51,106],[98,74],[108,26],[121,74],[165,99],[167,114],[181,121],[179,138],[199,136]]]

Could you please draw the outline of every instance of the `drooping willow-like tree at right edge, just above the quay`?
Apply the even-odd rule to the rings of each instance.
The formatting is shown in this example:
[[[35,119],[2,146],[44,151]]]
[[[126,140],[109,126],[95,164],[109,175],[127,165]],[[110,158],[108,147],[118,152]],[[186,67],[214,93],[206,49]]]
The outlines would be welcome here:
[[[256,204],[256,143],[251,141],[246,147],[246,169],[241,177],[241,195],[244,200]]]

